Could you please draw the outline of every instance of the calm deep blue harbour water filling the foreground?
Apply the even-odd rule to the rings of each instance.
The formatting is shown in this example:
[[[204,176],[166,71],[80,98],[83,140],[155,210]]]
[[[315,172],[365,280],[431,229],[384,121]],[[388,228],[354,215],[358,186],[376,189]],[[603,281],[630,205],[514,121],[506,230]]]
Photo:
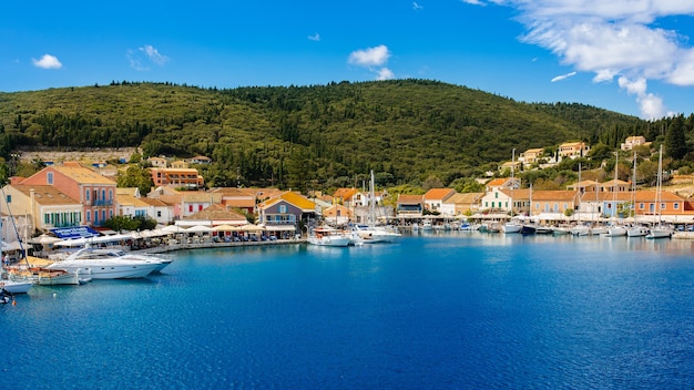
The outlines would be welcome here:
[[[181,252],[0,307],[6,389],[691,389],[688,240]]]

